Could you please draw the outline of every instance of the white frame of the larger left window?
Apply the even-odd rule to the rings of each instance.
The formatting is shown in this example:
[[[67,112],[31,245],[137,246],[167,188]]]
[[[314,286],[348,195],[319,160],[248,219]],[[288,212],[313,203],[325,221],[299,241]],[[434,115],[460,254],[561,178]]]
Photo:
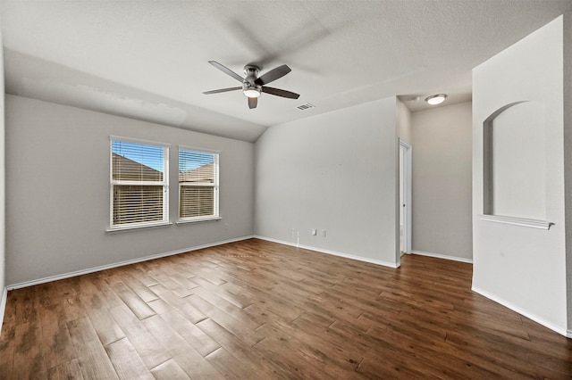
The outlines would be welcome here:
[[[163,147],[163,181],[128,181],[114,179],[113,167],[113,144],[114,141],[153,145]],[[160,143],[156,141],[141,140],[138,138],[109,136],[109,228],[107,232],[120,232],[130,229],[148,228],[148,227],[164,227],[172,223],[169,221],[169,150],[170,144]],[[114,225],[114,186],[163,186],[163,219],[156,221],[147,221],[139,223],[125,223]]]

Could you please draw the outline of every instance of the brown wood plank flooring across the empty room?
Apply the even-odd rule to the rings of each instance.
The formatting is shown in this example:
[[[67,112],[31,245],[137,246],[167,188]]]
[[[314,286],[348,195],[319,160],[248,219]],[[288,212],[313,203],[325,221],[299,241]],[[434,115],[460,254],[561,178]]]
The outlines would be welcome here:
[[[1,379],[570,378],[572,340],[470,290],[257,239],[8,293]]]

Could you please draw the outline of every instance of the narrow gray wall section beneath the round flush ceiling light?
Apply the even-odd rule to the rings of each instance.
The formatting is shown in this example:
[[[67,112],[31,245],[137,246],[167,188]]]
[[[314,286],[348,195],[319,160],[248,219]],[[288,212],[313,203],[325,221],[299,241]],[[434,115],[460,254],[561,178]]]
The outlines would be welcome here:
[[[413,252],[473,259],[471,103],[413,112]]]

